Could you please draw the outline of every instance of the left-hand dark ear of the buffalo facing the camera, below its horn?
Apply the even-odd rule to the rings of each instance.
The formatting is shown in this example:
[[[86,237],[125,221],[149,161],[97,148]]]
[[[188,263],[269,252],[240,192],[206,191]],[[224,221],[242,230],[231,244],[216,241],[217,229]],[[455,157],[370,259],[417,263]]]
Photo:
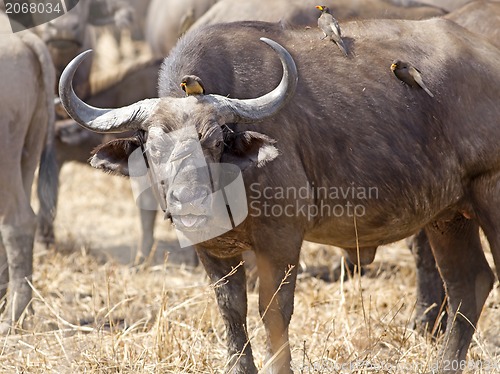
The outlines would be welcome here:
[[[90,166],[128,177],[129,156],[140,146],[137,137],[111,140],[92,151]]]

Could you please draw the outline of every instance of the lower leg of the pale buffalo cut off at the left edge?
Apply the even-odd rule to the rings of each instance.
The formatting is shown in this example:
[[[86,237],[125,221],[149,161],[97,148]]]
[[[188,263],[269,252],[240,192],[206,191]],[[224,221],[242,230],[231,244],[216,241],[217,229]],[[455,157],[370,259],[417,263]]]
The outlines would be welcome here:
[[[5,334],[19,320],[31,301],[28,280],[33,273],[34,220],[15,227],[4,225],[0,227],[0,234],[7,253],[9,273],[7,305],[0,325],[0,334]]]

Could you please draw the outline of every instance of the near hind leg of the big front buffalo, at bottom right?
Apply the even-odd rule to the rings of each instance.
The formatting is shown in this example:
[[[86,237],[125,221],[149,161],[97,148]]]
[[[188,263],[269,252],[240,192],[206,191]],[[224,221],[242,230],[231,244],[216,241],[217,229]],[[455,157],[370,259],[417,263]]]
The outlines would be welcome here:
[[[428,225],[425,231],[448,296],[448,322],[439,372],[461,373],[494,276],[481,248],[475,221],[457,214],[451,220]]]

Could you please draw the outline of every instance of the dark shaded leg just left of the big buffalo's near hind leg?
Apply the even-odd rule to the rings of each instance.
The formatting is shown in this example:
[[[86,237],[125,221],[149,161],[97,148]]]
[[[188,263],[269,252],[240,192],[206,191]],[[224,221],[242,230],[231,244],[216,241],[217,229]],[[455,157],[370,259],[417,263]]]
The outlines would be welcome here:
[[[410,240],[410,249],[417,269],[417,306],[415,325],[419,331],[438,333],[446,329],[446,320],[440,320],[441,306],[446,293],[424,230]]]

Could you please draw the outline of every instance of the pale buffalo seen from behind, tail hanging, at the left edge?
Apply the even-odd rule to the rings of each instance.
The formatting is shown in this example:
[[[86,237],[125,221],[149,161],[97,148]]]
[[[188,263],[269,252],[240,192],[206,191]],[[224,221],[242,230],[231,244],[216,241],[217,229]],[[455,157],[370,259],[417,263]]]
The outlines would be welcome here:
[[[40,165],[41,210],[51,215],[57,168],[50,54],[31,32],[13,35],[1,13],[0,35],[0,299],[8,295],[0,334],[6,334],[31,301],[36,217],[30,198],[35,170]]]

